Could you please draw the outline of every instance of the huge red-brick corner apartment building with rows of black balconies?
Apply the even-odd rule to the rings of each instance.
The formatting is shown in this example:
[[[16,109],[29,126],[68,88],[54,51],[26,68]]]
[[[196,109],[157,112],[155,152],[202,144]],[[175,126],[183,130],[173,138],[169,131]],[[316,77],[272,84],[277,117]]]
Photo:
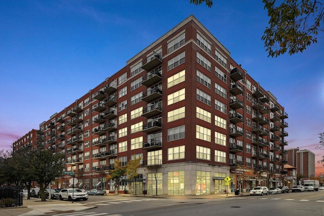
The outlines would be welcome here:
[[[229,192],[279,184],[286,118],[276,98],[189,16],[41,123],[37,136],[45,149],[66,154],[76,187],[211,194],[224,193],[227,176]],[[117,158],[125,165],[139,156],[137,182],[106,180]],[[257,177],[242,179],[249,169]],[[69,179],[54,187],[68,187]]]

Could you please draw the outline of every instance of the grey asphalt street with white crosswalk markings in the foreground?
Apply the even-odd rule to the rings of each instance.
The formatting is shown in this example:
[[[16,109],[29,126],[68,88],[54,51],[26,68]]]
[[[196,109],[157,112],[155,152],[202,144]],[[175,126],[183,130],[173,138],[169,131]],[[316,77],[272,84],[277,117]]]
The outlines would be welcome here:
[[[323,215],[324,191],[219,199],[202,199],[199,196],[191,199],[90,196],[83,203],[98,207],[70,215]]]

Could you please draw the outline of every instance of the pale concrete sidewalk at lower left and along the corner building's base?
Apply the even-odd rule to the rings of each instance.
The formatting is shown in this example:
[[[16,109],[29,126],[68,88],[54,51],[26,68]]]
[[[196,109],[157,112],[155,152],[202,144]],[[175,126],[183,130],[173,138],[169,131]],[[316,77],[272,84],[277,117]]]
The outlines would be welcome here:
[[[243,193],[238,196],[248,196],[249,193]],[[230,194],[207,194],[207,195],[134,195],[134,194],[107,194],[106,196],[128,196],[128,197],[145,197],[145,198],[165,198],[165,199],[217,199],[227,197],[238,197],[233,193]],[[91,196],[90,196],[91,197]],[[82,201],[84,202],[84,201]],[[79,201],[61,201],[59,199],[47,200],[41,202],[38,198],[23,198],[23,206],[0,208],[1,216],[41,216],[60,213],[71,213],[86,209],[96,208],[95,205],[84,204]]]

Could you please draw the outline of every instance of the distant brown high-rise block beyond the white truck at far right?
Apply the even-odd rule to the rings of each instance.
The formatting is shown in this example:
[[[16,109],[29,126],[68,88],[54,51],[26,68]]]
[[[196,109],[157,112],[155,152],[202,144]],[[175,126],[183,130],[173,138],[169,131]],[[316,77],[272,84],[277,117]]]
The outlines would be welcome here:
[[[287,149],[286,159],[288,164],[296,167],[297,175],[304,178],[315,177],[315,154],[309,150],[299,148]]]

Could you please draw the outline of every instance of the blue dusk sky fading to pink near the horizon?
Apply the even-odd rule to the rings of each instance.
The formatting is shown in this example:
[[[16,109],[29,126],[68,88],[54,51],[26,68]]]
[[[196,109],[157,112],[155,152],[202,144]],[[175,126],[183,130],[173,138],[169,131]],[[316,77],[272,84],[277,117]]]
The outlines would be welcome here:
[[[267,57],[262,1],[214,0],[212,8],[177,1],[0,0],[0,149],[50,119],[190,15],[270,91],[289,118],[288,146],[324,150],[324,34],[293,56]]]

